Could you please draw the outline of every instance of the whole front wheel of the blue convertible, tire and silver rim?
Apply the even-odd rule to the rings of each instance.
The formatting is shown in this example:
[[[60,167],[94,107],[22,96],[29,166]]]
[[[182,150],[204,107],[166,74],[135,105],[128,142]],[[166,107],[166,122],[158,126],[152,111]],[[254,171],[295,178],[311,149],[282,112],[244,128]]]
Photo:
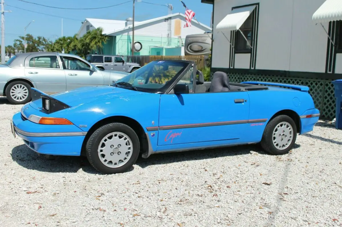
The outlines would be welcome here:
[[[110,123],[98,128],[86,144],[88,161],[105,174],[128,171],[139,153],[138,136],[131,127],[122,123]]]

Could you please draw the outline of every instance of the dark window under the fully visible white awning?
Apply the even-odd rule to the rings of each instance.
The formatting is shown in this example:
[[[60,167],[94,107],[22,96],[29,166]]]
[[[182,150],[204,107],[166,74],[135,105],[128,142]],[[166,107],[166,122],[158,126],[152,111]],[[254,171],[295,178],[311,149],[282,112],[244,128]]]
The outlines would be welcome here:
[[[253,34],[253,18],[254,18],[254,10],[249,15],[247,20],[244,22],[244,24],[241,25],[240,31],[244,34],[246,39],[248,40],[248,43],[252,46],[252,34]],[[235,41],[235,52],[236,53],[250,53],[252,51],[251,47],[247,44],[246,39],[244,36],[242,36],[241,32],[239,30],[236,32],[236,41]]]

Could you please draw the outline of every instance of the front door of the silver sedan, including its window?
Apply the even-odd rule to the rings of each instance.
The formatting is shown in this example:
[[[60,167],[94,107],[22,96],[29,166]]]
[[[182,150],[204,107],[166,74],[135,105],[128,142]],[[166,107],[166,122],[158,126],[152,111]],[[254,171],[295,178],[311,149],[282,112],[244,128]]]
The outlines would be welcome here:
[[[66,90],[81,87],[104,85],[104,78],[100,71],[91,71],[90,65],[79,58],[61,56],[66,76]]]

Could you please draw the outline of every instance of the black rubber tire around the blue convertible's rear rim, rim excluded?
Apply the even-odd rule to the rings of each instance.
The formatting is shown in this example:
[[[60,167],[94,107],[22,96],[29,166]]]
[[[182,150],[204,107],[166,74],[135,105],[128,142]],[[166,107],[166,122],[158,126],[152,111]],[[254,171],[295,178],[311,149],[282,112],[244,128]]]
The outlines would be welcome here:
[[[292,138],[291,144],[288,148],[284,150],[277,149],[273,144],[273,131],[280,122],[289,123],[292,126],[292,130],[293,130],[293,134],[292,134],[293,138]],[[261,144],[267,152],[274,154],[274,155],[282,155],[282,154],[287,154],[292,149],[296,139],[297,139],[297,126],[295,122],[293,121],[292,118],[290,118],[287,115],[280,115],[272,119],[267,124],[265,128],[264,138],[263,138],[264,141],[262,141]]]

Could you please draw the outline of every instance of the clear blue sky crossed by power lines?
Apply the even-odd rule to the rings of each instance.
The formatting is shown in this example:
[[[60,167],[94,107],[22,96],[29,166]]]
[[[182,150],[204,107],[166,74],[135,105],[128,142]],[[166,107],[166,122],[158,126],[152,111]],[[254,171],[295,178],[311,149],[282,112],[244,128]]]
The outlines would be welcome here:
[[[108,5],[115,5],[128,0],[26,0],[28,2],[39,3],[43,5],[64,7],[64,8],[95,8]],[[142,0],[156,4],[172,4],[172,13],[183,13],[185,8],[180,0]],[[183,0],[186,6],[193,10],[197,20],[210,26],[210,16],[212,5],[201,3],[200,0]],[[133,3],[125,3],[119,6],[96,10],[63,10],[39,6],[18,0],[5,0],[5,10],[11,10],[11,13],[5,13],[5,45],[13,45],[13,41],[18,35],[24,35],[24,28],[32,22],[26,29],[26,33],[34,36],[44,36],[54,40],[62,35],[62,17],[63,17],[63,36],[72,36],[81,27],[81,21],[84,18],[116,19],[125,20],[132,17]],[[15,8],[19,7],[21,9]],[[25,10],[23,10],[25,9]],[[30,11],[36,11],[30,12]],[[44,14],[55,15],[49,16]],[[161,5],[147,4],[143,2],[135,3],[135,20],[142,21],[160,17],[168,14],[168,8]],[[157,32],[157,31],[156,31]]]

